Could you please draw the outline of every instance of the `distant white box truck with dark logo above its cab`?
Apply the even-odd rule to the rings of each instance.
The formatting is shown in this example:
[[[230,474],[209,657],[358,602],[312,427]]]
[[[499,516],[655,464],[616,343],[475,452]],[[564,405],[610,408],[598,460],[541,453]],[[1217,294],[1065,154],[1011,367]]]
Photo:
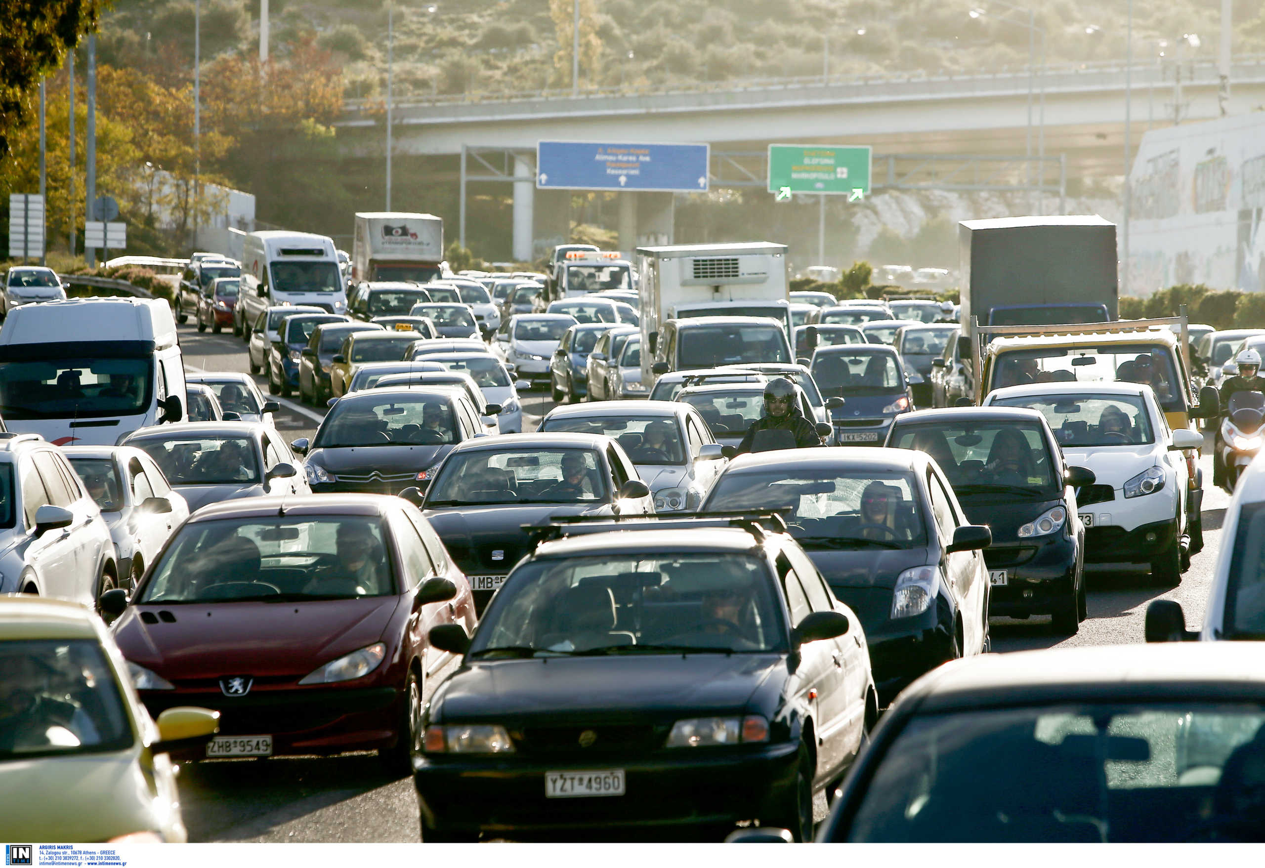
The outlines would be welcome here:
[[[352,281],[419,281],[447,272],[444,221],[433,214],[358,213]]]

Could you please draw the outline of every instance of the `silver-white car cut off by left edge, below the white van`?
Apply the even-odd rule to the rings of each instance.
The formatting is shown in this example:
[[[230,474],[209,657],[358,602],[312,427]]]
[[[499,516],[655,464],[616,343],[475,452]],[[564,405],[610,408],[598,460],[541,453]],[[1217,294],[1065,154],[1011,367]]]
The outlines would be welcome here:
[[[119,586],[110,526],[56,445],[0,433],[0,593],[95,606]]]

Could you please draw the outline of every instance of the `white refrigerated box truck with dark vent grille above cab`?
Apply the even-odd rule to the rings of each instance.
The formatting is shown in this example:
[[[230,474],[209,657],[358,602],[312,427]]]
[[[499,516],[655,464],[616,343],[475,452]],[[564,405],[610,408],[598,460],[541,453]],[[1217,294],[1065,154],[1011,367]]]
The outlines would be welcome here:
[[[693,316],[773,318],[791,339],[787,245],[674,244],[639,247],[641,382],[654,386],[660,326]],[[778,361],[778,359],[768,359]]]

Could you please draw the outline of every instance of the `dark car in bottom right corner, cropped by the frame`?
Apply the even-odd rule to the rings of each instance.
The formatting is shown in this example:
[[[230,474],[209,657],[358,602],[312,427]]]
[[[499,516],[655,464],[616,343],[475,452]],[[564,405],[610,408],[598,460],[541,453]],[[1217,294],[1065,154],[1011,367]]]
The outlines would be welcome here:
[[[1261,643],[958,660],[883,716],[817,840],[1259,843],[1262,669]]]

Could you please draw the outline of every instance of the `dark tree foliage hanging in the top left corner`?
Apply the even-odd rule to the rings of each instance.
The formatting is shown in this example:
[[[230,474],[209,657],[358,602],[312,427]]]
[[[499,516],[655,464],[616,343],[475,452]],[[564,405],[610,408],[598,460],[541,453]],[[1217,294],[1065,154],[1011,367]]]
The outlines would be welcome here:
[[[62,63],[80,35],[96,29],[100,0],[4,0],[0,3],[0,157],[30,115],[39,77]]]

